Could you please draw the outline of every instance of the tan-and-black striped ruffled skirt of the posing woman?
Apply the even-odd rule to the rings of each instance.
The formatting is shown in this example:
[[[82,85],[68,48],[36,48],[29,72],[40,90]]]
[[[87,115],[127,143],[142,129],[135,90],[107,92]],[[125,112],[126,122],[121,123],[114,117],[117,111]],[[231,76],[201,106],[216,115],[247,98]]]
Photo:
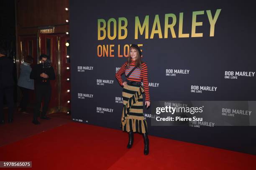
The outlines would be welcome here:
[[[121,127],[123,131],[147,133],[147,122],[143,115],[142,86],[127,85],[123,87],[123,111]]]

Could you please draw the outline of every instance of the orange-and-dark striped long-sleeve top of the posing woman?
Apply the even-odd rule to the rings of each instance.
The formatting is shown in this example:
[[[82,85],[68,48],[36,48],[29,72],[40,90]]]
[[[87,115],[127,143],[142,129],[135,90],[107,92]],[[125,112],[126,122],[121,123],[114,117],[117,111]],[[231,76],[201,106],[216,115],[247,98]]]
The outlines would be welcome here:
[[[128,61],[126,61],[122,67],[118,70],[118,72],[115,74],[116,79],[118,80],[119,84],[123,86],[123,80],[121,75],[125,73],[125,76],[128,75],[128,73],[135,67],[135,61],[131,61],[131,65],[129,68],[126,68],[128,64]],[[149,96],[149,87],[148,87],[148,67],[145,62],[141,63],[142,68],[136,68],[131,75],[127,78],[127,80],[130,81],[136,81],[136,82],[143,82],[144,92],[145,92],[145,101],[150,101]]]

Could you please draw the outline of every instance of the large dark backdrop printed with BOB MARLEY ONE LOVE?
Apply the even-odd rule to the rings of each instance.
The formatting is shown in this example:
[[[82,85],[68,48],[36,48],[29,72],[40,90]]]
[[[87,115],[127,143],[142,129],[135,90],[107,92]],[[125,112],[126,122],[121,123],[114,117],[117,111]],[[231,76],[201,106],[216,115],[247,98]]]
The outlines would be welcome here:
[[[70,1],[72,120],[120,129],[115,73],[138,44],[149,135],[256,154],[255,18],[250,1]]]

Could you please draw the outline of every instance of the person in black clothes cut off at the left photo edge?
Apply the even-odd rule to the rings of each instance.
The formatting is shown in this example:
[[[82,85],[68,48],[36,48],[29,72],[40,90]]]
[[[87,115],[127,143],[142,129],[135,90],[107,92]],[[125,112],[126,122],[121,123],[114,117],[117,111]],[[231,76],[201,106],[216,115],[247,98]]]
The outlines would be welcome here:
[[[6,51],[0,47],[0,124],[5,123],[3,114],[3,97],[8,105],[8,122],[13,122],[13,61],[6,57]]]

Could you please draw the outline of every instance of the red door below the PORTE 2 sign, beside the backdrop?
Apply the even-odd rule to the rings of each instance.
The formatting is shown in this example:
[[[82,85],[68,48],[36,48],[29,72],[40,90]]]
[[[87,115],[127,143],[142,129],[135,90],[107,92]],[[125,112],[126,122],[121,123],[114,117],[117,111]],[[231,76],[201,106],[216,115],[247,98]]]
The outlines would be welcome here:
[[[65,34],[39,34],[40,55],[50,56],[56,75],[56,79],[51,81],[49,113],[70,110],[70,102],[68,102],[70,101],[70,92],[68,92],[70,90],[70,69],[67,69],[70,67],[70,58],[67,58],[69,53],[67,41],[69,37]]]

